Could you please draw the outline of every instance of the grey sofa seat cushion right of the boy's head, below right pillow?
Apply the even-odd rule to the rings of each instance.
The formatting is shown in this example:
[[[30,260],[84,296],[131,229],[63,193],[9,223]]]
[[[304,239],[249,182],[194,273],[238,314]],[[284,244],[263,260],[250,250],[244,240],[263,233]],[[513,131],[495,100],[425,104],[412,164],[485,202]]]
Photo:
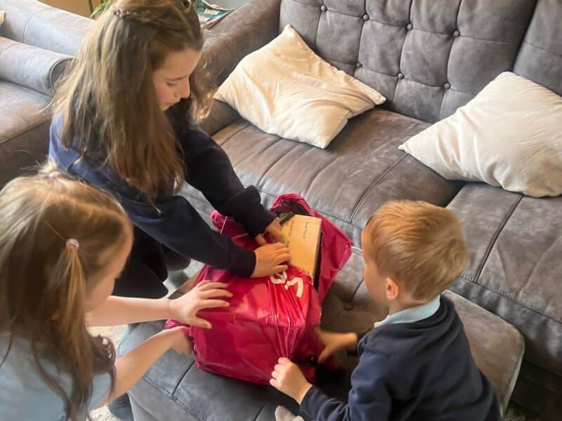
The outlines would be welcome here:
[[[451,289],[514,325],[525,361],[562,376],[562,196],[471,184],[448,208],[461,218],[470,250]],[[562,394],[562,381],[557,389]]]

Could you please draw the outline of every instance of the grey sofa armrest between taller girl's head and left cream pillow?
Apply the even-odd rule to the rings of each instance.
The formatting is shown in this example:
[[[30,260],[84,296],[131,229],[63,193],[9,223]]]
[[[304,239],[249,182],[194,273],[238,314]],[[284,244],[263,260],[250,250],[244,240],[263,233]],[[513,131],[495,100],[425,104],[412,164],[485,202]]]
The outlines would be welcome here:
[[[203,51],[216,87],[245,55],[277,36],[280,3],[281,0],[250,0],[205,31]]]

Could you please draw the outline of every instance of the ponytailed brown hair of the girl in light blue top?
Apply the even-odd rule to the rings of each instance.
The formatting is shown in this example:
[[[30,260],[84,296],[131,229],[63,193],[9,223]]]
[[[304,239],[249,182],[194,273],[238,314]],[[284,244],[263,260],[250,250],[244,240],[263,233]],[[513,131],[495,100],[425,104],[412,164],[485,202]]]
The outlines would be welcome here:
[[[115,348],[88,332],[84,305],[93,275],[107,264],[100,253],[127,235],[132,227],[116,201],[54,164],[0,192],[0,332],[10,338],[0,365],[14,338],[30,342],[41,377],[72,420],[87,416],[94,375],[109,373],[115,382]],[[70,375],[70,392],[46,373],[45,360]]]

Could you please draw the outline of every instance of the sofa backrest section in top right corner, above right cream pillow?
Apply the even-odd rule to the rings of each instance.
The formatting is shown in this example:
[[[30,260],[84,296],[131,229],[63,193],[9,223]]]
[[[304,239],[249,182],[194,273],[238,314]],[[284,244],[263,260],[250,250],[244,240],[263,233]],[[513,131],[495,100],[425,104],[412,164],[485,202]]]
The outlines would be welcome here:
[[[514,71],[562,95],[562,1],[539,0]]]

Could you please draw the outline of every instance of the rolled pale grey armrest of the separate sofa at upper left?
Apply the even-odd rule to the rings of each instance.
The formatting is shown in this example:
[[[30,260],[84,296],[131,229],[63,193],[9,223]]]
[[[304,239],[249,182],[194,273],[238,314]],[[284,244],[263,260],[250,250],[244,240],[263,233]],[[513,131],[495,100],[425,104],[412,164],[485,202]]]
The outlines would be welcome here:
[[[0,36],[0,79],[53,93],[55,82],[70,64],[68,55],[55,53]]]

